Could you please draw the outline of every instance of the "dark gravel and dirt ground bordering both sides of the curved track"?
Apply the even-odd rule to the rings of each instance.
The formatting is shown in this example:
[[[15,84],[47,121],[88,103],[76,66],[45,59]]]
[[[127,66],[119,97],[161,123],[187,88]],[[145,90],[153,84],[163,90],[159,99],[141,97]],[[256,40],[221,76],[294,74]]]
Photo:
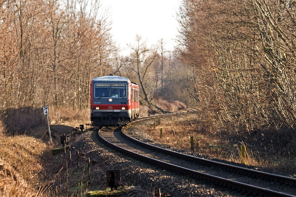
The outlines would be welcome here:
[[[164,122],[172,126],[169,120]],[[79,128],[81,124],[87,130],[81,133],[77,129],[75,134],[70,136],[67,144],[67,147],[70,146],[70,149],[66,150],[66,154],[63,151],[54,155],[51,153],[44,154],[43,163],[45,171],[40,177],[41,182],[46,183],[44,194],[47,196],[83,196],[91,191],[103,191],[106,194],[106,192],[110,192],[109,187],[106,186],[106,170],[110,169],[120,169],[120,191],[124,193],[124,196],[159,196],[159,191],[171,196],[237,195],[221,188],[213,188],[208,183],[182,178],[176,174],[157,169],[116,153],[96,139],[96,127],[90,126],[88,121],[62,122],[51,125],[54,148],[62,148],[60,136],[75,131],[75,128]],[[163,141],[155,141],[148,131],[143,130],[143,128],[151,130],[152,126],[153,123],[151,121],[135,123],[126,128],[125,132],[142,141],[154,143],[154,145],[163,146],[164,148],[175,149],[179,152],[193,154],[206,159],[217,159],[213,156],[200,154],[197,151],[181,150],[160,143]],[[48,141],[49,136],[47,133],[48,129],[44,127],[39,130],[27,131],[26,135],[39,136],[44,141]],[[71,160],[69,157],[70,152]],[[77,152],[80,155],[79,167],[77,164]],[[90,178],[88,178],[88,159],[90,159]],[[264,169],[262,166],[251,166],[250,168],[271,171],[270,169]],[[284,172],[279,171],[277,173],[284,174]],[[120,196],[122,195],[121,193]]]

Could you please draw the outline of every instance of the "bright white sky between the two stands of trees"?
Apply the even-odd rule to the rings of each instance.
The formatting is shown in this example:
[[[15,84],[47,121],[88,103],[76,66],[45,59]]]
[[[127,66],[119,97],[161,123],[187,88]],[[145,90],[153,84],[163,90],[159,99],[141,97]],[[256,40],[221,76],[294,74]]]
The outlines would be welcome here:
[[[136,34],[147,40],[147,44],[157,44],[161,38],[165,49],[173,50],[173,40],[177,35],[176,12],[181,0],[101,0],[109,7],[112,20],[112,35],[128,55],[126,44],[135,43]]]

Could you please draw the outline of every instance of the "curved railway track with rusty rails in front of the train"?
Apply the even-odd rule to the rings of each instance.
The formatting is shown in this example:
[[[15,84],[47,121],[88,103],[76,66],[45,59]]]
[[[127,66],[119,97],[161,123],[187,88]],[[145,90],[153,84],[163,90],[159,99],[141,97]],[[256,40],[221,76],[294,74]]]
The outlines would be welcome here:
[[[174,114],[176,115],[176,114]],[[159,117],[151,116],[147,118]],[[102,128],[97,137],[107,146],[151,165],[205,180],[251,196],[296,196],[296,179],[201,159],[162,149],[127,136],[121,129]]]

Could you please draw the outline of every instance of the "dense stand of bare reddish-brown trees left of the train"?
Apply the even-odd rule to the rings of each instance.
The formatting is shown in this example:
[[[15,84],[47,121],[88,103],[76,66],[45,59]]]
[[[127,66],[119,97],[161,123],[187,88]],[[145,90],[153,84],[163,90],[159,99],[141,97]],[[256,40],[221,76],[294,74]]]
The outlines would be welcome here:
[[[1,1],[0,15],[1,106],[87,107],[91,79],[115,59],[100,2]]]

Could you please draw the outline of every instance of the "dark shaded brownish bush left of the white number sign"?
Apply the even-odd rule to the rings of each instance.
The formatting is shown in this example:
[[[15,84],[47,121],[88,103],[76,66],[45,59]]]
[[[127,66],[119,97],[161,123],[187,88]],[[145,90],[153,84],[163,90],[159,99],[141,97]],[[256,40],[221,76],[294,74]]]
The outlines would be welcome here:
[[[11,108],[2,113],[1,119],[11,133],[23,133],[28,129],[46,125],[42,108]]]

